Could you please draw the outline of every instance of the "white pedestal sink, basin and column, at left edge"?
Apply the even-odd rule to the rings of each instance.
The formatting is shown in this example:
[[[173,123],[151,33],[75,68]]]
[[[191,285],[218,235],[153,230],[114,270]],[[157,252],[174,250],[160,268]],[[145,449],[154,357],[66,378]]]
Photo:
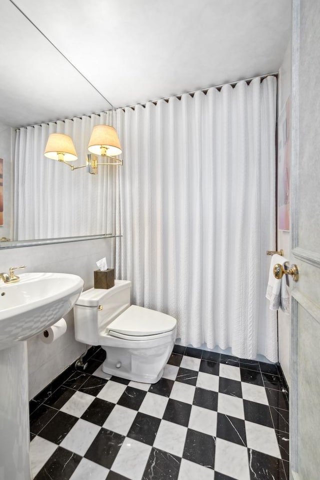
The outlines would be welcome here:
[[[83,288],[68,273],[0,282],[0,479],[30,480],[26,341],[67,313]]]

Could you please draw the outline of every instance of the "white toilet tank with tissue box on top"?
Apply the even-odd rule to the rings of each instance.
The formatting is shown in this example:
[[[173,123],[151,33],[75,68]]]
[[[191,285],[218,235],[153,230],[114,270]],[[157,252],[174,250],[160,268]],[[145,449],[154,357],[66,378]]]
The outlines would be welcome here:
[[[83,291],[73,307],[75,339],[88,345],[99,345],[99,335],[130,306],[130,296],[129,280],[114,280],[114,286],[108,289]]]

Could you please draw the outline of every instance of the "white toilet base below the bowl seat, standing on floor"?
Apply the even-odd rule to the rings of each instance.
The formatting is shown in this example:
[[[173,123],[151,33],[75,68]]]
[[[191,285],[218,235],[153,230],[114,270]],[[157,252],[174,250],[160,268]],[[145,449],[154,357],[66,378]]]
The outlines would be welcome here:
[[[174,340],[150,348],[101,347],[106,352],[102,371],[128,380],[156,383],[162,376]]]

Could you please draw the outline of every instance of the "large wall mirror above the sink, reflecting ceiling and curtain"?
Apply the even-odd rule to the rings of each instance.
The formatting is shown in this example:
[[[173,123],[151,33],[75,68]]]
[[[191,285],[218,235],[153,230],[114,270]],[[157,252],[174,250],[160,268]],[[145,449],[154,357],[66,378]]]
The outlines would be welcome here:
[[[85,163],[90,131],[112,124],[112,105],[11,1],[0,9],[0,248],[111,236],[116,167],[71,171],[43,151],[49,133],[65,132],[74,166]]]

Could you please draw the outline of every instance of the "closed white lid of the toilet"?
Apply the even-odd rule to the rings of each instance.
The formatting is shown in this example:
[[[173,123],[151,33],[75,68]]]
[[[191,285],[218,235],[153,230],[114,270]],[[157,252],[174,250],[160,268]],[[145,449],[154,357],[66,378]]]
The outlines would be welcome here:
[[[165,313],[131,305],[108,324],[108,330],[126,335],[156,335],[173,330],[176,319]]]

